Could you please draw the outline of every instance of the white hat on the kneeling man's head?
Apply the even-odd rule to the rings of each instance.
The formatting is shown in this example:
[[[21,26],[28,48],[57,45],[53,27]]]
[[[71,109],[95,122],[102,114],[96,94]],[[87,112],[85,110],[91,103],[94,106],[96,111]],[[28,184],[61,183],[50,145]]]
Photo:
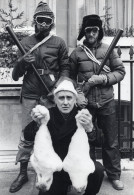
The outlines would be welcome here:
[[[72,93],[74,93],[76,96],[77,91],[74,88],[74,85],[71,81],[69,80],[63,80],[58,86],[57,88],[53,91],[54,95],[60,91],[70,91]]]

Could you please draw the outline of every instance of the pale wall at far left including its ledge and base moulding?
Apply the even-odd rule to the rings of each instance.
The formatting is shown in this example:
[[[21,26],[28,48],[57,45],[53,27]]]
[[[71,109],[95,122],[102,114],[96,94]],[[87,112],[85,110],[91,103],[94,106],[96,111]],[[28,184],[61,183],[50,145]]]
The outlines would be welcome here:
[[[20,87],[0,87],[0,162],[15,161],[22,130]]]

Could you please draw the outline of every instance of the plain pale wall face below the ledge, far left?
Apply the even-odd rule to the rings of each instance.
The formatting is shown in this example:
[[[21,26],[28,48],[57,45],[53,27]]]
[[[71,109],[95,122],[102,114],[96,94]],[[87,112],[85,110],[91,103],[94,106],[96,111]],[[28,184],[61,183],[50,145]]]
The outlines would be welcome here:
[[[19,99],[0,99],[0,150],[17,150],[22,130]]]

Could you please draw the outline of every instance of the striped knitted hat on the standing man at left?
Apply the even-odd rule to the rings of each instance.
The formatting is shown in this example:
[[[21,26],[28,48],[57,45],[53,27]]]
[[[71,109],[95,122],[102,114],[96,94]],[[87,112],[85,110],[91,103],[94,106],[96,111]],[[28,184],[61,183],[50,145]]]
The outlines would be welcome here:
[[[50,17],[54,18],[54,13],[52,10],[49,8],[47,3],[44,3],[43,1],[40,1],[35,12],[34,12],[34,17],[36,15],[48,15]]]

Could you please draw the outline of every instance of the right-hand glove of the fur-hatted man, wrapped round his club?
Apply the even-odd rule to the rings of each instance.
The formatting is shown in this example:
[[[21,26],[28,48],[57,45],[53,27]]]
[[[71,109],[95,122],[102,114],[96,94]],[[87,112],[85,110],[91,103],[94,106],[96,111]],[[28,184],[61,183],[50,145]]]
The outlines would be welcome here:
[[[95,85],[106,85],[107,76],[104,74],[93,75],[90,79],[88,79],[88,83],[90,84],[91,87]]]

